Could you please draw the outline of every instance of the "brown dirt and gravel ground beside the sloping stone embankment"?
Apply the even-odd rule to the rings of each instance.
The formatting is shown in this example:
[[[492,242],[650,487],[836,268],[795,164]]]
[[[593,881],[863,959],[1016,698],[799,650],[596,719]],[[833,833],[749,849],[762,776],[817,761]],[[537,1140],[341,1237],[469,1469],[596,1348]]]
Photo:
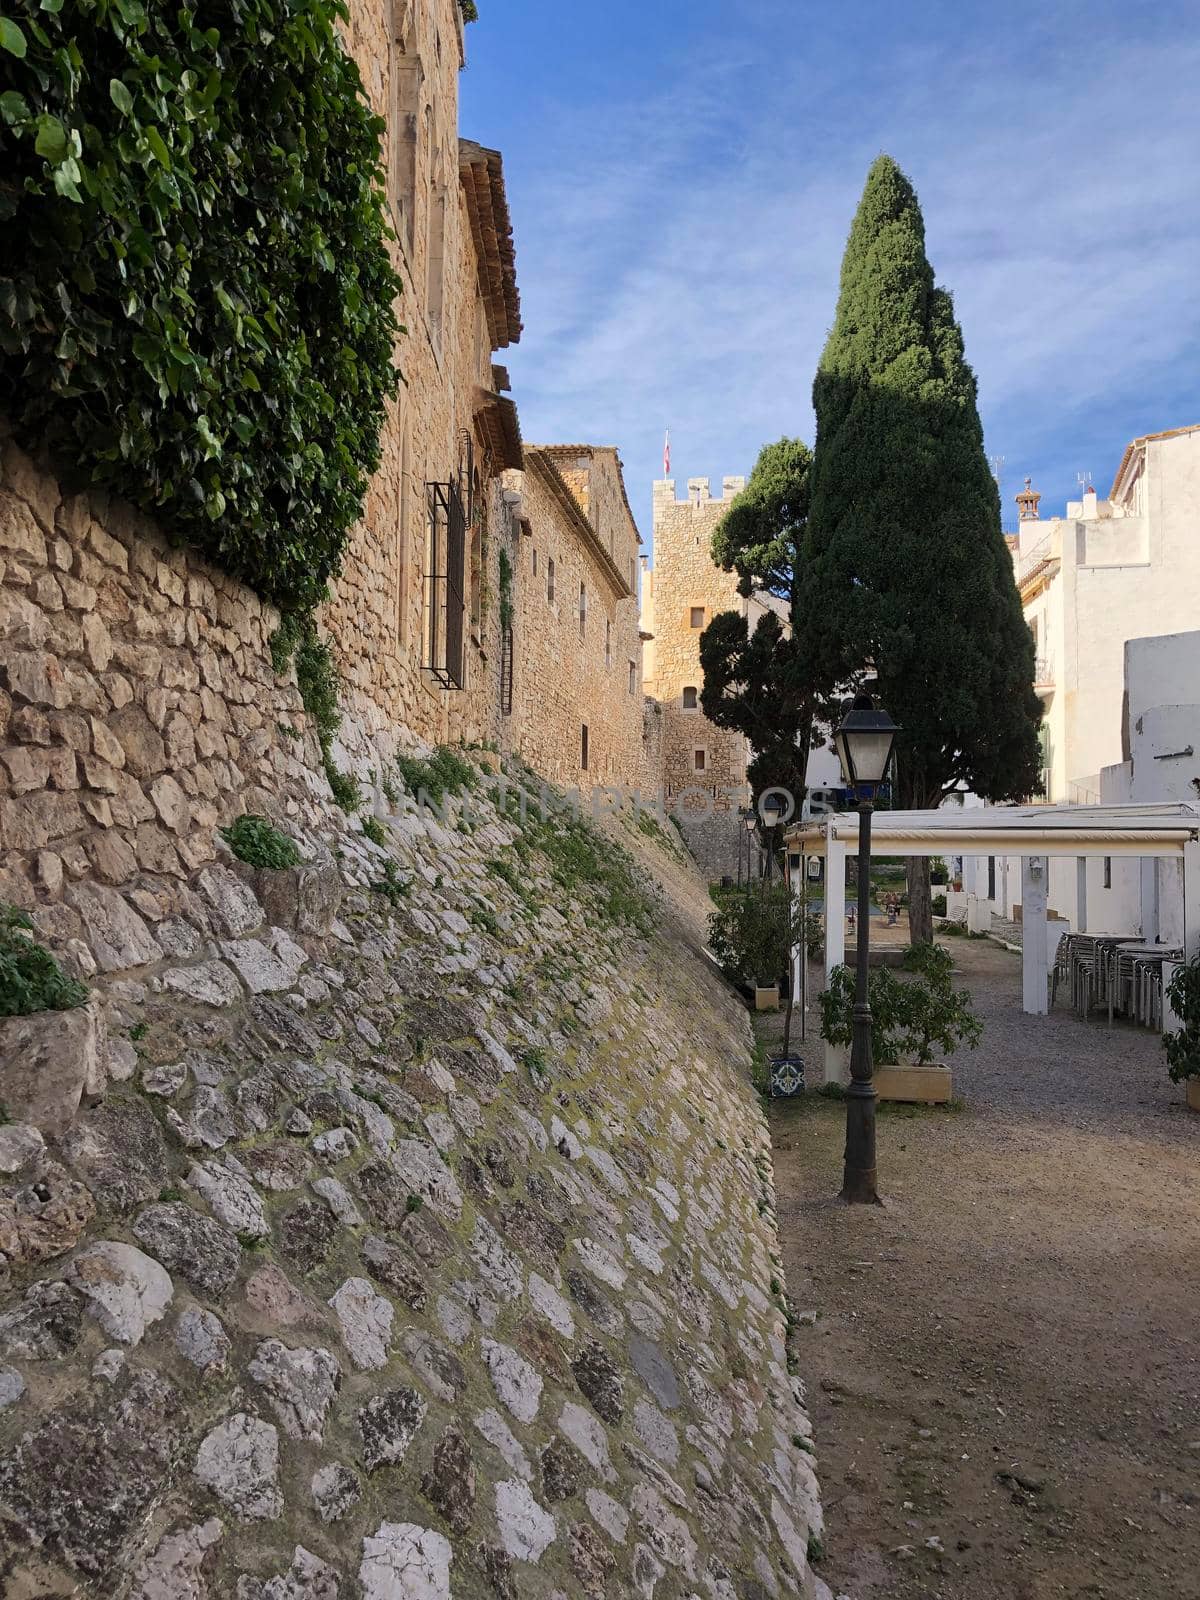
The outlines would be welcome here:
[[[778,1102],[779,1227],[827,1539],[853,1600],[1200,1597],[1200,1117],[1157,1037],[1021,1014],[955,949],[963,1107],[885,1107],[882,1210],[845,1110]]]

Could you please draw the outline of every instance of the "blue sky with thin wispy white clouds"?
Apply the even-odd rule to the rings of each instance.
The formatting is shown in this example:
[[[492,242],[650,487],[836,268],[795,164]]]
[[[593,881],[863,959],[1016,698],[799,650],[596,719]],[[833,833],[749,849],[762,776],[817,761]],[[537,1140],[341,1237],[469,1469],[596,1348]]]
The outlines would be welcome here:
[[[811,442],[846,232],[909,173],[979,378],[1005,525],[1200,422],[1195,0],[478,0],[462,131],[504,152],[525,437],[650,483]]]

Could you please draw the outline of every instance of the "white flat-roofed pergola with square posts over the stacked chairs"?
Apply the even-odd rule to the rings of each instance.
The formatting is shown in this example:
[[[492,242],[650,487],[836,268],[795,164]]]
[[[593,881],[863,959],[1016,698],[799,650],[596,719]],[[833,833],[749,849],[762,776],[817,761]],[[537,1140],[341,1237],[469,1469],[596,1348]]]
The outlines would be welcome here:
[[[826,981],[846,958],[846,856],[858,854],[858,811],[798,822],[792,854],[826,861]],[[875,811],[872,856],[1019,856],[1022,998],[1048,1010],[1046,861],[1050,856],[1134,856],[1178,861],[1184,885],[1184,957],[1200,955],[1200,805],[946,806]]]

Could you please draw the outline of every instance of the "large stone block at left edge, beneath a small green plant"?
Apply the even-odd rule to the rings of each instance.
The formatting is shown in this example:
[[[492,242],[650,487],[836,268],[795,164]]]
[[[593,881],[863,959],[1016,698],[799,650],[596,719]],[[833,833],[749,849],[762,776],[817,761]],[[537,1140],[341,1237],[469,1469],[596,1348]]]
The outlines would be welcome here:
[[[0,1104],[14,1122],[61,1138],[85,1090],[104,1088],[104,1018],[98,1002],[0,1022]]]

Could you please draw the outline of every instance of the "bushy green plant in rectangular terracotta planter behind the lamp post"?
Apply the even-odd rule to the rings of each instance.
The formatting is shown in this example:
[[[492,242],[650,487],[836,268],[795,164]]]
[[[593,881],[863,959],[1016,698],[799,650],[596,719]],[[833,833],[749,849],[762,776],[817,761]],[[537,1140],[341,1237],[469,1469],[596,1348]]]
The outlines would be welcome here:
[[[934,1051],[974,1050],[982,1024],[970,995],[954,989],[954,958],[936,944],[915,944],[904,957],[907,978],[888,968],[870,974],[870,1048],[880,1099],[949,1101],[950,1069]],[[819,997],[821,1032],[830,1045],[850,1045],[854,1034],[854,978],[838,966]]]

